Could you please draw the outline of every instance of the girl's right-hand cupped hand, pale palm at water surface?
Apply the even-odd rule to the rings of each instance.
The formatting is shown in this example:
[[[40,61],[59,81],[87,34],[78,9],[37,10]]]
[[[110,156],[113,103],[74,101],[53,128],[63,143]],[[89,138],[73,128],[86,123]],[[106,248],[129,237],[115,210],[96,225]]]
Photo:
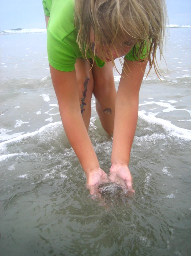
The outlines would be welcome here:
[[[127,191],[128,195],[135,193],[132,186],[133,179],[127,165],[113,164],[110,168],[109,179],[111,182],[115,182],[124,187],[124,191]]]

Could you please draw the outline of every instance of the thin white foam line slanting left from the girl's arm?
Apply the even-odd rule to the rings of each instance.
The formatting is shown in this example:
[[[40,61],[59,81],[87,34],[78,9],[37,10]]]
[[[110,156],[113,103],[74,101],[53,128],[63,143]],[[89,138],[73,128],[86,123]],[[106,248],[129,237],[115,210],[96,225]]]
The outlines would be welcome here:
[[[12,142],[16,142],[16,141],[22,141],[26,138],[31,138],[31,137],[35,136],[36,134],[38,134],[38,133],[46,131],[47,128],[49,128],[51,126],[60,126],[61,124],[62,124],[62,122],[55,122],[55,123],[47,124],[45,126],[42,126],[38,131],[31,132],[31,133],[26,133],[26,134],[20,135],[16,138],[13,138],[11,140],[3,141],[3,142],[0,143],[0,148],[2,148],[4,145],[6,145],[8,143],[12,143]],[[14,155],[14,154],[10,154],[10,155]]]

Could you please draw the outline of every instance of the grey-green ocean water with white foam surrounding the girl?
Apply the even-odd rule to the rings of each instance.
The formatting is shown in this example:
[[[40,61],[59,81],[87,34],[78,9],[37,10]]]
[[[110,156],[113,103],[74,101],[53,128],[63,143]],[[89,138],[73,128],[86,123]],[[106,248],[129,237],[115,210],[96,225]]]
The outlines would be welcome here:
[[[190,255],[191,27],[169,29],[164,78],[152,70],[140,90],[135,195],[110,184],[101,202],[89,195],[63,131],[46,30],[0,32],[1,256]],[[109,173],[112,139],[94,97],[89,135]]]

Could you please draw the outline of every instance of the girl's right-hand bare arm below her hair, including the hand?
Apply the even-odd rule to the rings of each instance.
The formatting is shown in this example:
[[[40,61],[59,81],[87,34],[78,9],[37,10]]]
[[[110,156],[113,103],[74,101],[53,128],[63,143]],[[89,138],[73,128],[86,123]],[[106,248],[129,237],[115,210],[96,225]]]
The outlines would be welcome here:
[[[110,178],[117,181],[120,177],[130,189],[132,177],[128,168],[129,158],[137,126],[139,90],[146,67],[147,61],[124,60],[124,68],[128,74],[123,69],[115,103]]]

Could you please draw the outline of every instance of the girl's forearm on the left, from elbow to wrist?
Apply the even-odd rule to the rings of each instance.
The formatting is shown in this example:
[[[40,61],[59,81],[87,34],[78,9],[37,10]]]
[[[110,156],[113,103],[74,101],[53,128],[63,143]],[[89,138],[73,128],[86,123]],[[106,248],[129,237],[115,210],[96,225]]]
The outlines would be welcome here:
[[[87,176],[89,171],[99,168],[99,162],[84,125],[80,108],[76,111],[60,108],[60,114],[68,140]]]

